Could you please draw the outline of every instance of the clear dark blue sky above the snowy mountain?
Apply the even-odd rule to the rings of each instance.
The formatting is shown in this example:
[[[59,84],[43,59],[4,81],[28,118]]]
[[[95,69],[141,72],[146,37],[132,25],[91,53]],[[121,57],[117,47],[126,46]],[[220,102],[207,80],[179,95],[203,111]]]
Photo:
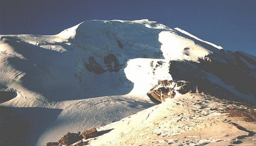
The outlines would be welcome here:
[[[157,21],[256,56],[256,0],[0,0],[0,34],[57,34],[115,19]]]

